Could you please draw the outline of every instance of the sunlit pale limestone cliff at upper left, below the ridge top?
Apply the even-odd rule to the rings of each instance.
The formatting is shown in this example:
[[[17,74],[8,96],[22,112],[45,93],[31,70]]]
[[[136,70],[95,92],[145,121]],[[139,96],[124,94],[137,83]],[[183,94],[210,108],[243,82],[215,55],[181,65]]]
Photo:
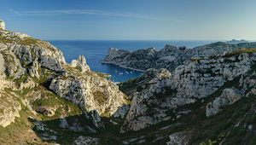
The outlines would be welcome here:
[[[32,77],[39,78],[39,67],[63,71],[62,66],[66,61],[62,52],[48,42],[21,32],[0,31],[0,37],[4,38],[0,43],[2,52],[7,54],[6,70],[9,77],[19,78],[27,72]]]

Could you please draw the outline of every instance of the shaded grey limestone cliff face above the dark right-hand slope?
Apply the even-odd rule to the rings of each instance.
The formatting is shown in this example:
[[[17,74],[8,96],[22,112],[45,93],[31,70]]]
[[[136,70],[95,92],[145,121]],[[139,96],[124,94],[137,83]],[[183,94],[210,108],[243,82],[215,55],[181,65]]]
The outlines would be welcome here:
[[[143,88],[132,94],[131,109],[122,131],[137,131],[166,119],[176,119],[179,114],[177,108],[211,95],[225,82],[247,73],[255,62],[255,49],[250,53],[235,51],[192,59],[177,67],[166,78],[152,78],[154,81],[141,85]],[[159,73],[154,71],[154,76]],[[238,98],[234,97],[230,102]]]

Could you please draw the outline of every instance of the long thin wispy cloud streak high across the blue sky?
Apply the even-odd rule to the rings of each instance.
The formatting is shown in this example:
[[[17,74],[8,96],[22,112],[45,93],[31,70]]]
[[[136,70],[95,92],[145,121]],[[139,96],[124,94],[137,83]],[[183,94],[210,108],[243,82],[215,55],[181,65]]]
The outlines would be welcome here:
[[[97,9],[55,9],[55,10],[31,10],[31,11],[15,11],[14,9],[9,9],[11,14],[20,16],[29,15],[55,15],[55,14],[87,14],[87,15],[102,15],[102,16],[117,16],[117,17],[127,17],[127,18],[139,18],[147,20],[172,20],[181,21],[175,18],[161,18],[155,17],[147,14],[135,14],[128,12],[109,12]]]

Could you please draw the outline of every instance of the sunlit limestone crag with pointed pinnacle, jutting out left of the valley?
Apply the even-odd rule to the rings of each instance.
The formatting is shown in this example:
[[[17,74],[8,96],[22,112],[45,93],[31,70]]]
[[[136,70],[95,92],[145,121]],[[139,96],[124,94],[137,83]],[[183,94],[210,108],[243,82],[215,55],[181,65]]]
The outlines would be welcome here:
[[[86,112],[96,110],[100,115],[113,115],[119,107],[126,104],[125,95],[119,91],[116,84],[97,73],[90,72],[84,57],[82,58],[83,61],[80,60],[81,56],[79,56],[78,64],[72,61],[71,65],[66,66],[66,73],[52,79],[49,89],[78,104]],[[77,68],[76,66],[80,67]],[[102,75],[104,74],[102,73]],[[119,115],[123,116],[124,113]]]

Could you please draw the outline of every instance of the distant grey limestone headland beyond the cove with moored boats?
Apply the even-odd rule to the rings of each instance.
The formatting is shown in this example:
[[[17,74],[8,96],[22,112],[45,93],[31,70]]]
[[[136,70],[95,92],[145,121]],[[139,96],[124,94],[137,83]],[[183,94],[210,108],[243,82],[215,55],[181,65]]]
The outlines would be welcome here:
[[[222,54],[234,49],[255,48],[256,43],[225,44],[222,42],[206,44],[193,49],[166,45],[159,51],[155,49],[139,49],[129,51],[122,49],[108,49],[108,55],[102,63],[111,63],[119,67],[146,71],[148,68],[166,68],[172,72],[190,58],[199,58],[210,55]]]

